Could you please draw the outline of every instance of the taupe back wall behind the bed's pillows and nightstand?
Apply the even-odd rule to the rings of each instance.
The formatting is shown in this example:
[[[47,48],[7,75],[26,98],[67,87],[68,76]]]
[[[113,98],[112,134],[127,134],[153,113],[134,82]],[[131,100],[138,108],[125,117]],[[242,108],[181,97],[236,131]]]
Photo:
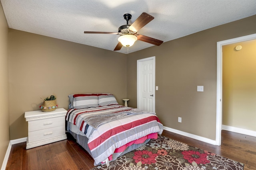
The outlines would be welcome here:
[[[68,95],[109,92],[126,98],[126,55],[9,29],[10,139],[27,137],[25,111],[39,110],[56,95],[68,109]]]

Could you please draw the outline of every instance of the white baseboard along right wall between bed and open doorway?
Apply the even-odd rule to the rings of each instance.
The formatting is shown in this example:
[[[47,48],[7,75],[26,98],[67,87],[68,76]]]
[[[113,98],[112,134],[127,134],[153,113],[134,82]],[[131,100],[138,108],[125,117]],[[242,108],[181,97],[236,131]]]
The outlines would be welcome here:
[[[212,139],[208,139],[208,138],[205,138],[205,137],[200,137],[198,135],[194,135],[194,134],[191,134],[191,133],[186,133],[186,132],[179,131],[179,130],[172,129],[170,127],[165,127],[165,126],[164,126],[164,130],[170,131],[170,132],[173,132],[173,133],[177,133],[177,134],[182,135],[182,136],[190,137],[190,138],[196,139],[198,141],[202,141],[202,142],[210,143],[212,145],[216,145],[216,141],[214,141]]]

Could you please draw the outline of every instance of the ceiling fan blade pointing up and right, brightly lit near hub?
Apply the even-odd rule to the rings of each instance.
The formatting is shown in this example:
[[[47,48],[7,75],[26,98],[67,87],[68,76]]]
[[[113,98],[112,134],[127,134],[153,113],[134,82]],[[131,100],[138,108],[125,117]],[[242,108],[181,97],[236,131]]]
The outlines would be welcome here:
[[[130,31],[138,32],[142,27],[154,19],[153,16],[143,12],[137,20],[135,20],[132,25],[129,27]]]

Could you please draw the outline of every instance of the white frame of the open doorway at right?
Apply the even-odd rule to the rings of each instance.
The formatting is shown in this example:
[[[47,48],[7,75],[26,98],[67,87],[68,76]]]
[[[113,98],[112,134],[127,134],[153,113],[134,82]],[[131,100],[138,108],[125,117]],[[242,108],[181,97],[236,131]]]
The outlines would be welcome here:
[[[216,107],[216,145],[221,145],[222,130],[222,46],[256,39],[256,33],[243,37],[217,42],[217,107]]]

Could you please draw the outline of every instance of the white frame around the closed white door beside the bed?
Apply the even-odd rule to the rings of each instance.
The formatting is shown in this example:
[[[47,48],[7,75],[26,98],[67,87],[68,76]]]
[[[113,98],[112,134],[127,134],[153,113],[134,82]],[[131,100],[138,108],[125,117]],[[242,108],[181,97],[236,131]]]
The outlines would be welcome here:
[[[148,57],[148,58],[145,58],[145,59],[140,59],[140,60],[137,60],[137,107],[139,107],[139,99],[141,97],[141,94],[140,94],[140,91],[139,91],[139,87],[142,85],[141,84],[141,77],[140,77],[140,64],[144,61],[148,61],[148,60],[153,60],[153,87],[154,87],[154,90],[153,90],[153,112],[156,111],[156,103],[155,103],[155,92],[156,92],[156,89],[155,89],[155,86],[156,86],[156,56],[153,56],[153,57]]]

